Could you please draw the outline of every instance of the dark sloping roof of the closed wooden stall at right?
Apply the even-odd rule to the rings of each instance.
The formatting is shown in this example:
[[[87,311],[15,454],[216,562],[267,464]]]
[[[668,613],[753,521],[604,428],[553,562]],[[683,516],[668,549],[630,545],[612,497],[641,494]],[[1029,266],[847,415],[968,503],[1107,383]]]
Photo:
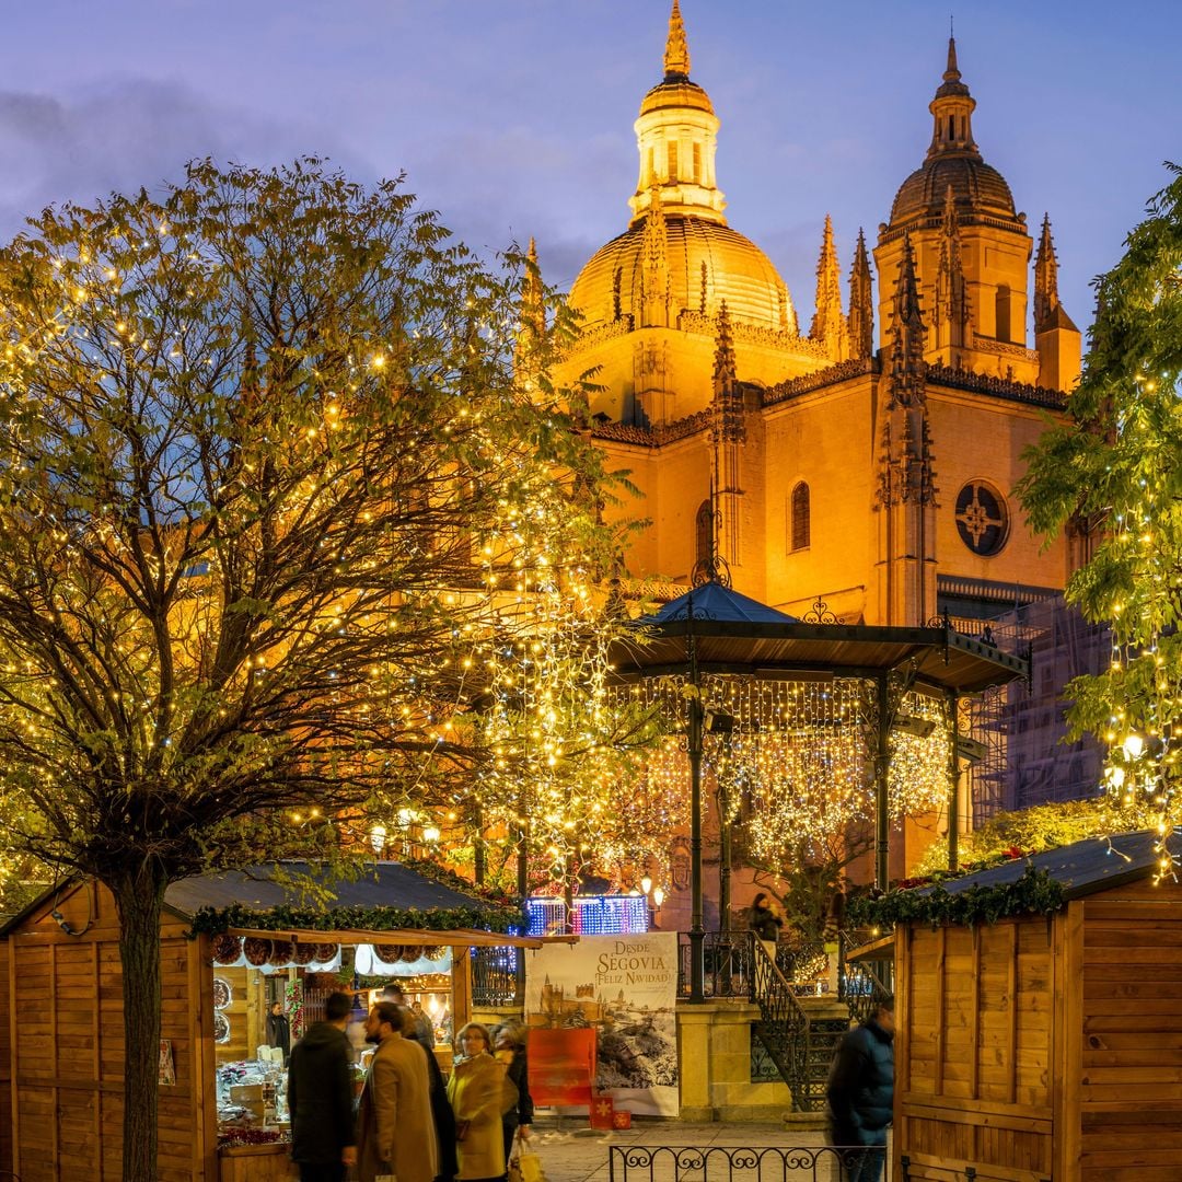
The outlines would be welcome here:
[[[1156,830],[1092,837],[1028,858],[1014,858],[1013,862],[1004,862],[1000,866],[979,870],[963,878],[949,878],[940,885],[949,895],[960,894],[970,886],[1001,886],[1017,882],[1027,868],[1033,866],[1045,870],[1051,878],[1061,883],[1065,898],[1080,898],[1156,872]],[[1176,859],[1182,859],[1182,832],[1174,830],[1170,833],[1167,849]],[[922,888],[920,894],[929,890],[933,888]]]

